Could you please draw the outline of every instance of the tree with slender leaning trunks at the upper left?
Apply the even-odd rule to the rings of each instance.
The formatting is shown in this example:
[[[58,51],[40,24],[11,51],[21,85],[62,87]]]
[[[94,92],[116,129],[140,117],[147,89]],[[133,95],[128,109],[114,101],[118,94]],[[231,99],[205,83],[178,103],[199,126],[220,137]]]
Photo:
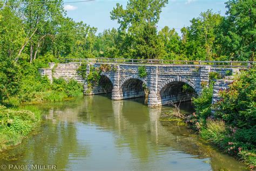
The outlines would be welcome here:
[[[37,5],[35,5],[37,3]],[[19,50],[18,57],[27,45],[30,54],[30,63],[36,59],[40,47],[45,38],[54,38],[59,23],[59,18],[63,16],[63,4],[61,0],[51,1],[23,1],[18,8],[19,16],[23,19],[23,29],[26,38]],[[52,43],[48,42],[48,43]]]

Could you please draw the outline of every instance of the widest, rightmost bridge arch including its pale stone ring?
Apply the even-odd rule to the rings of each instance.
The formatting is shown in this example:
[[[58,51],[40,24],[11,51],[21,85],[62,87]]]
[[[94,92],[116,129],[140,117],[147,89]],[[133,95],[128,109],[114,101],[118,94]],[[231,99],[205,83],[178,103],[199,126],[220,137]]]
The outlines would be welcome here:
[[[187,89],[184,89],[187,85]],[[158,87],[158,100],[161,105],[170,104],[171,101],[191,101],[192,97],[196,97],[199,90],[193,83],[183,78],[172,78]]]

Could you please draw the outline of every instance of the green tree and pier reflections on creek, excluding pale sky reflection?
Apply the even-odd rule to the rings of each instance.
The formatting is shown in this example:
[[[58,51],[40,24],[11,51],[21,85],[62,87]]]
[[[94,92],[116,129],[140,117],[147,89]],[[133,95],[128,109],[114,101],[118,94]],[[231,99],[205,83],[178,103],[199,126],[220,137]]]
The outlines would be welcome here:
[[[16,161],[19,164],[30,163],[33,159],[33,163],[69,168],[72,159],[89,156],[92,149],[79,143],[77,135],[77,124],[82,122],[112,132],[118,152],[122,154],[129,148],[132,158],[143,163],[150,163],[152,159],[173,151],[187,153],[197,159],[209,158],[213,170],[239,170],[237,162],[212,150],[186,127],[165,126],[159,121],[161,108],[148,108],[132,100],[112,101],[100,95],[41,107],[49,112],[45,117],[49,120],[42,126],[42,133],[23,143],[25,148],[21,146],[9,153],[24,156]],[[17,164],[15,161],[9,163]]]

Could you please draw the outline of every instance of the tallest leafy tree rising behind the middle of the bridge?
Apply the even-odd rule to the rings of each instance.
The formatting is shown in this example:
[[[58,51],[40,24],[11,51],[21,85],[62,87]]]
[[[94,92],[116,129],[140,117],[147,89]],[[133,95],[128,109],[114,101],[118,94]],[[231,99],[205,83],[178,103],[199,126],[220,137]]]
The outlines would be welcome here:
[[[128,58],[161,56],[163,50],[162,45],[159,44],[156,24],[166,3],[167,0],[130,0],[126,9],[117,3],[110,14],[111,19],[117,20],[120,24],[119,38],[125,42],[124,46],[120,47],[120,52],[125,50],[124,56]]]

